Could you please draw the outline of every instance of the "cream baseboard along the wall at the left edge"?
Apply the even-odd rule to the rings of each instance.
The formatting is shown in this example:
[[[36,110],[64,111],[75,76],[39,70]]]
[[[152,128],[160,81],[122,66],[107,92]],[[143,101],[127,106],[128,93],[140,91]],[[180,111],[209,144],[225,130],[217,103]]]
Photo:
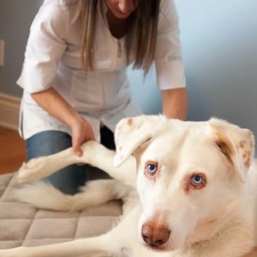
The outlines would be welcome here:
[[[20,98],[0,93],[0,126],[18,130]]]

